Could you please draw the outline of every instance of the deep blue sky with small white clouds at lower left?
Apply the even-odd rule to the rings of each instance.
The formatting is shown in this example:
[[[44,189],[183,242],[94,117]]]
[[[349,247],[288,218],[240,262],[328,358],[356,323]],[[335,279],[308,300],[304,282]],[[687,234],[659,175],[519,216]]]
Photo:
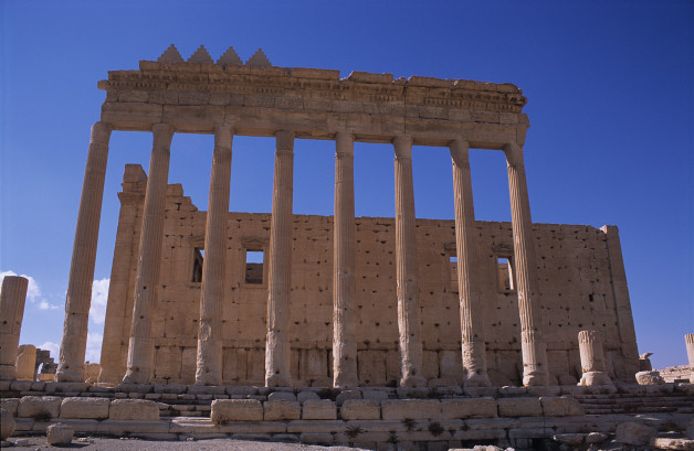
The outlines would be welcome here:
[[[639,352],[686,363],[694,332],[691,1],[0,2],[0,272],[32,278],[21,343],[55,351],[90,128],[108,71],[176,44],[273,65],[513,83],[528,98],[533,219],[620,228]],[[234,138],[232,211],[269,212],[274,142]],[[119,183],[151,135],[114,132],[90,321],[98,359]],[[356,146],[357,215],[392,216],[392,148]],[[212,138],[177,135],[170,183],[207,210]],[[334,143],[295,144],[294,212],[333,213]],[[452,218],[450,155],[416,147],[418,217]],[[502,152],[472,150],[475,213],[509,221]],[[56,354],[54,354],[56,357]]]

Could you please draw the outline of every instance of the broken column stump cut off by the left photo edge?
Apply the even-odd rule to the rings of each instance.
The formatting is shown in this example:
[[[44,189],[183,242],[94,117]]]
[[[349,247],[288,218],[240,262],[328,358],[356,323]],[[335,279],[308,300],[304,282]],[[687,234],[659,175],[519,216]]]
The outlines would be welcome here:
[[[0,292],[0,380],[15,380],[17,346],[24,318],[24,302],[29,280],[6,276]]]

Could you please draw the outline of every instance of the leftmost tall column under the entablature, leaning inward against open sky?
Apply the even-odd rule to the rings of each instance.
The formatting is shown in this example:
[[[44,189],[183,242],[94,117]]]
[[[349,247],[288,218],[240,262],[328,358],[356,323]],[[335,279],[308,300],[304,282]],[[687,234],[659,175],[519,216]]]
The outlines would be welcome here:
[[[104,122],[96,122],[92,126],[67,280],[65,322],[55,373],[57,382],[84,382],[87,323],[92,304],[92,282],[94,281],[111,130],[111,126]]]

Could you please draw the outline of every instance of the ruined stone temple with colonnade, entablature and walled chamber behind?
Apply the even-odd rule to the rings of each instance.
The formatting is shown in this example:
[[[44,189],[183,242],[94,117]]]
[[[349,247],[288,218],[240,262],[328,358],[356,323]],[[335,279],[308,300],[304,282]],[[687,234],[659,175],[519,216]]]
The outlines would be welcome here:
[[[582,330],[600,333],[603,373],[633,379],[618,230],[532,222],[516,86],[340,78],[262,52],[243,65],[232,49],[183,62],[172,46],[98,86],[57,380],[84,380],[113,130],[154,144],[149,171],[126,167],[119,193],[102,383],[576,385]],[[214,136],[208,212],[169,184],[174,133]],[[276,139],[272,214],[229,212],[233,136]],[[292,210],[297,138],[335,141],[334,216]],[[395,218],[355,217],[357,141],[392,146]],[[450,150],[455,221],[416,216],[413,144]],[[505,152],[511,223],[475,221],[470,148]]]

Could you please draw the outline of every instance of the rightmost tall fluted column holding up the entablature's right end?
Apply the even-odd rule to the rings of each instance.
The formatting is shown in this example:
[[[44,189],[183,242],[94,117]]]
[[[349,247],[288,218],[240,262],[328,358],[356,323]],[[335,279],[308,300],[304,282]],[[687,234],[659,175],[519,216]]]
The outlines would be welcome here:
[[[511,217],[513,248],[516,262],[518,310],[520,312],[520,346],[523,352],[523,385],[547,385],[547,350],[541,333],[537,261],[530,202],[525,180],[523,148],[506,144],[508,189],[511,192]]]

